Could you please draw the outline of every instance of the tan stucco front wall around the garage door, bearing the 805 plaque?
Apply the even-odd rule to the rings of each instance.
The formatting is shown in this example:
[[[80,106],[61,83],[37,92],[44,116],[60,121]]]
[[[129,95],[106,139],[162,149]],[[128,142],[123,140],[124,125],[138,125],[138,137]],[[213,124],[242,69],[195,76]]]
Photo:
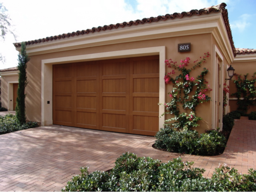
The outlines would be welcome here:
[[[190,52],[178,52],[178,44],[180,43],[191,43]],[[92,53],[101,53],[108,51],[118,51],[118,50],[127,50],[127,49],[137,49],[137,48],[149,48],[149,47],[166,47],[166,58],[172,59],[179,62],[181,59],[186,57],[191,58],[191,66],[193,66],[193,61],[200,59],[200,56],[204,55],[204,52],[213,52],[213,37],[211,34],[201,34],[201,35],[191,35],[183,37],[172,37],[172,38],[163,38],[156,40],[147,40],[147,41],[138,41],[130,43],[122,43],[115,45],[99,46],[92,48],[83,48],[69,51],[62,51],[56,53],[47,53],[40,55],[30,56],[31,59],[27,66],[27,77],[28,85],[26,87],[26,108],[27,108],[27,118],[31,121],[41,122],[41,62],[44,59],[50,58],[59,58],[67,57],[74,55],[85,55]],[[164,60],[160,60],[164,62]],[[197,68],[195,71],[191,72],[191,76],[196,77],[203,70],[203,67],[209,69],[209,73],[206,76],[207,81],[209,82],[210,87],[212,87],[212,55],[207,60],[202,67]],[[169,68],[166,67],[166,72],[169,72]],[[48,78],[48,77],[44,77]],[[163,77],[160,77],[160,80],[164,81]],[[171,85],[166,86],[166,102],[170,100],[167,93],[171,91]],[[213,92],[210,92],[212,97]],[[197,128],[199,132],[204,132],[205,129],[211,129],[212,124],[212,101],[203,103],[197,107],[197,114],[199,117],[203,118],[203,121],[200,122],[200,127]],[[168,117],[166,117],[168,118]]]

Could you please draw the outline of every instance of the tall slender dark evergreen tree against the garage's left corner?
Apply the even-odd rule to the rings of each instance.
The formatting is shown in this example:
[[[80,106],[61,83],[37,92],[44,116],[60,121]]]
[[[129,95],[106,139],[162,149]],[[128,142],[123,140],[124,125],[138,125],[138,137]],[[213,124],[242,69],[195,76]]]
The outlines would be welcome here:
[[[21,53],[18,55],[18,70],[19,72],[19,85],[17,93],[17,104],[16,104],[16,117],[20,125],[26,123],[26,107],[25,107],[25,87],[27,86],[27,62],[30,60],[26,52],[26,45],[24,42],[21,43]]]

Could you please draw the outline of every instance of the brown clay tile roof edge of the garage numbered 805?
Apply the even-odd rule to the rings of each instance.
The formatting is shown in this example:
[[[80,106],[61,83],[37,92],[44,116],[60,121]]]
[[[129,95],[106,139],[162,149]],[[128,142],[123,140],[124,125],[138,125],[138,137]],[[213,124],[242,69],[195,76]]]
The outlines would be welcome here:
[[[152,23],[152,22],[158,22],[158,21],[165,21],[169,19],[176,19],[176,18],[183,18],[183,17],[191,17],[194,15],[203,15],[203,14],[210,14],[210,13],[217,13],[221,12],[224,23],[226,25],[226,29],[228,32],[229,40],[233,49],[234,56],[236,55],[235,47],[234,47],[234,42],[229,26],[229,21],[228,21],[228,12],[225,9],[227,5],[225,3],[221,3],[219,5],[211,6],[208,8],[204,9],[194,9],[189,12],[182,12],[182,13],[173,13],[173,14],[166,14],[165,16],[157,16],[157,17],[150,17],[150,18],[144,18],[142,20],[136,20],[136,21],[130,21],[130,22],[123,22],[123,23],[117,23],[115,25],[104,25],[103,27],[93,27],[92,29],[87,29],[87,30],[82,30],[82,31],[77,31],[77,32],[72,32],[72,33],[67,33],[67,34],[62,34],[62,35],[57,35],[57,36],[51,36],[51,37],[46,37],[43,39],[38,39],[38,40],[32,40],[32,41],[27,41],[25,42],[26,45],[33,45],[33,44],[38,44],[38,43],[43,43],[43,42],[48,42],[48,41],[54,41],[57,39],[64,39],[64,38],[69,38],[69,37],[74,37],[74,36],[79,36],[79,35],[85,35],[89,33],[95,33],[95,32],[100,32],[100,31],[106,31],[106,30],[112,30],[112,29],[117,29],[117,28],[123,28],[123,27],[128,27],[132,25],[141,25],[144,23]],[[14,43],[14,46],[20,47],[21,43]]]

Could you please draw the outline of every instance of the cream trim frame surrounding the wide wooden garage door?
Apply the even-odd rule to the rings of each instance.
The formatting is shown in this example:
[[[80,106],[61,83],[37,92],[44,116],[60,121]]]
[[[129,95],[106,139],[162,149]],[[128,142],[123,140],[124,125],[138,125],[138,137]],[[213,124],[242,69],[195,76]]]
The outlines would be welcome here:
[[[53,114],[52,114],[52,65],[70,62],[81,62],[90,60],[104,60],[113,58],[125,58],[125,57],[137,57],[137,56],[148,56],[148,55],[159,55],[159,103],[165,102],[165,46],[150,47],[150,48],[138,48],[138,49],[127,49],[119,51],[101,52],[93,54],[84,54],[77,56],[58,57],[51,59],[42,60],[42,71],[41,71],[41,125],[52,125]],[[49,104],[47,104],[49,102]],[[160,116],[164,113],[164,106],[159,105],[159,129],[163,127],[164,118]]]

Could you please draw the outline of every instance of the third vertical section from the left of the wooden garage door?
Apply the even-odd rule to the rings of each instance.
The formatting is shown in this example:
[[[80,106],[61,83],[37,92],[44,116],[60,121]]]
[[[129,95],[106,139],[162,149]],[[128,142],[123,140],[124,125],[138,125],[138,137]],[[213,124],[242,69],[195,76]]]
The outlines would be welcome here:
[[[100,61],[100,130],[129,133],[129,58]]]

